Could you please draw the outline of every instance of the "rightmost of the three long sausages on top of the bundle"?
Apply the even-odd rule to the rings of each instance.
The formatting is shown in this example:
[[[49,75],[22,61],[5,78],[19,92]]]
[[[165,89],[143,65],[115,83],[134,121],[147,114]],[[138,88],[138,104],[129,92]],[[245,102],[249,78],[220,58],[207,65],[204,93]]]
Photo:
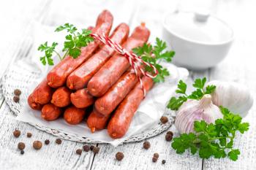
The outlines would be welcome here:
[[[133,48],[147,42],[150,32],[144,25],[138,26],[132,36],[123,45],[124,49],[131,51]],[[129,61],[121,54],[113,55],[94,77],[89,81],[87,88],[91,95],[102,96],[129,68]]]

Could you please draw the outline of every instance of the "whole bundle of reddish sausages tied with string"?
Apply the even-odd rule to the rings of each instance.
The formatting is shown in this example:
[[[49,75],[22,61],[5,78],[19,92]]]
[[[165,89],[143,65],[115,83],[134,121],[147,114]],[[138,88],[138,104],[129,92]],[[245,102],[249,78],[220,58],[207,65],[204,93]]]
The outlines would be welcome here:
[[[104,10],[91,31],[108,35],[112,23],[113,15]],[[142,24],[129,36],[129,26],[121,23],[110,39],[132,51],[147,42],[149,34]],[[29,106],[41,110],[42,118],[48,121],[56,120],[64,113],[64,120],[75,125],[87,117],[91,132],[107,127],[112,138],[121,138],[144,98],[138,77],[127,58],[115,53],[108,45],[94,41],[81,51],[78,58],[67,56],[53,67],[29,96]],[[142,82],[146,91],[154,85],[149,77],[142,77]]]

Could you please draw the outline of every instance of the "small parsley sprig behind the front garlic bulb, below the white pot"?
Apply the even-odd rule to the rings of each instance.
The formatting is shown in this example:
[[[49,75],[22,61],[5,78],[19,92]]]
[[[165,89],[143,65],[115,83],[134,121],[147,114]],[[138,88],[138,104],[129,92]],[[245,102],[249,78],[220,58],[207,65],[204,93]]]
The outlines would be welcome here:
[[[167,108],[172,110],[178,110],[181,105],[187,101],[187,99],[194,99],[194,100],[200,100],[205,94],[211,94],[214,92],[216,86],[215,85],[208,85],[206,86],[206,77],[203,79],[196,79],[193,87],[195,90],[188,95],[187,94],[187,84],[180,80],[178,82],[178,89],[176,90],[176,93],[181,94],[181,96],[178,97],[172,97],[170,98],[169,103],[167,104]]]

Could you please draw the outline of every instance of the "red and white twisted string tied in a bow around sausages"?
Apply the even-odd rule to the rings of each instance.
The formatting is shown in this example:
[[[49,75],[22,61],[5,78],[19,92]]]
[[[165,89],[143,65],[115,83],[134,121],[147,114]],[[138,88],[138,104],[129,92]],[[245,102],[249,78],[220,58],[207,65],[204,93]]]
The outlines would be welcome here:
[[[99,34],[90,34],[94,39],[99,40],[100,42],[102,42],[104,45],[108,45],[109,47],[112,47],[114,50],[116,50],[117,53],[120,53],[121,55],[123,55],[124,57],[127,58],[127,60],[129,61],[129,64],[132,66],[132,70],[135,72],[136,76],[138,77],[138,80],[140,82],[140,86],[143,89],[143,94],[144,97],[146,96],[146,90],[143,86],[143,82],[140,78],[140,74],[138,73],[138,71],[141,72],[141,74],[143,74],[143,76],[147,76],[150,78],[155,78],[157,77],[158,74],[158,70],[155,66],[153,66],[151,63],[148,63],[146,61],[143,61],[143,59],[136,55],[135,53],[129,52],[127,50],[125,50],[123,47],[121,47],[121,45],[118,45],[116,42],[113,42],[108,36],[106,36],[104,33],[99,35]],[[145,66],[149,66],[151,67],[151,69],[154,71],[154,74],[150,74],[149,72],[145,72],[141,63]]]

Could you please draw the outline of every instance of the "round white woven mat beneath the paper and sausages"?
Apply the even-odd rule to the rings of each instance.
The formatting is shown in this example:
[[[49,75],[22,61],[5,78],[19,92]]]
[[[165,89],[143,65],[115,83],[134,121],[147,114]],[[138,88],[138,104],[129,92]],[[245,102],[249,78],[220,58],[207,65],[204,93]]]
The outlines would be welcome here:
[[[29,85],[31,85],[31,83],[34,83],[39,76],[40,71],[31,62],[21,60],[12,64],[12,66],[10,66],[10,68],[2,77],[0,87],[2,88],[5,101],[10,106],[10,109],[12,109],[15,115],[18,115],[21,112],[24,104],[26,104],[27,102],[27,98],[29,96]],[[20,101],[18,103],[15,103],[13,101],[13,91],[17,88],[20,89],[22,93],[20,95]],[[170,125],[173,125],[175,112],[166,109],[164,115],[169,119],[167,123],[162,124],[159,122],[157,125],[147,131],[143,131],[141,134],[130,136],[129,139],[125,140],[124,142],[138,142],[143,139],[156,136],[157,134],[160,134],[163,131],[167,130]],[[34,125],[34,127],[38,128],[41,131],[46,131],[49,134],[53,134],[54,136],[58,136],[62,139],[67,139],[75,142],[101,143],[97,140],[79,136],[78,134],[71,134],[61,129],[48,128],[46,126],[37,125],[34,123],[29,124]]]

